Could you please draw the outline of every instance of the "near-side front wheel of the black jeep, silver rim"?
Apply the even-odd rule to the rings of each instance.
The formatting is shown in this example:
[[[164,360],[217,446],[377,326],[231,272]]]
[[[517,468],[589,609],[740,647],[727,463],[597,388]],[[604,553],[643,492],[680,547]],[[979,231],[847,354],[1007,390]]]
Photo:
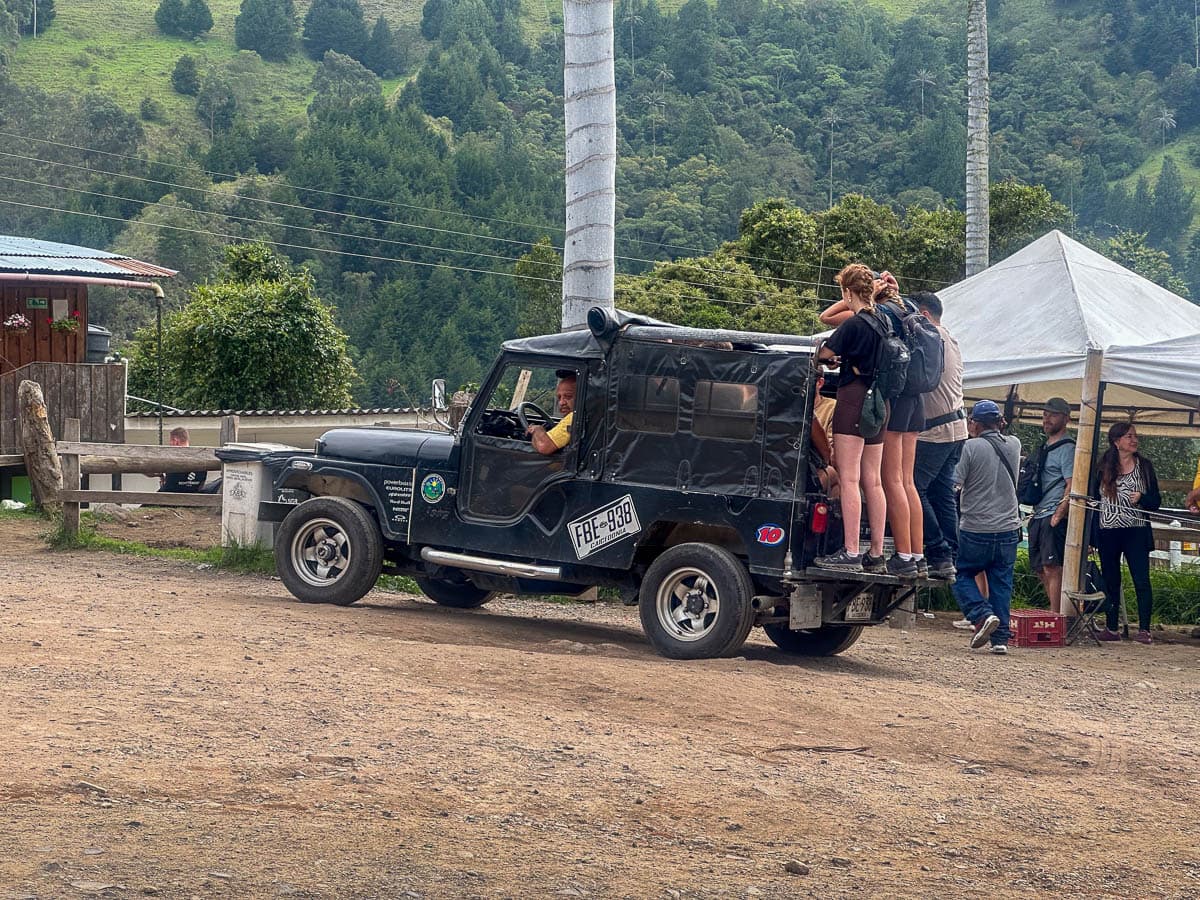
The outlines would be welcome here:
[[[314,497],[280,526],[275,568],[296,600],[349,606],[379,578],[383,535],[361,504],[344,497]]]

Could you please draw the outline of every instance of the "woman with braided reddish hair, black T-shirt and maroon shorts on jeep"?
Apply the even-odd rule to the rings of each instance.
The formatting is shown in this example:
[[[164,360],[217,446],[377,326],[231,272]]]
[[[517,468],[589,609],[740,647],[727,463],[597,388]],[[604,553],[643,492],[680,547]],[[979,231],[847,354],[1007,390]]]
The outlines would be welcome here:
[[[836,277],[841,286],[841,305],[850,314],[817,352],[817,362],[839,368],[838,406],[833,414],[838,476],[841,481],[841,518],[845,526],[842,550],[815,562],[822,569],[839,571],[880,571],[883,560],[883,529],[887,518],[880,464],[883,458],[883,431],[864,438],[859,419],[868,388],[875,378],[880,355],[880,335],[864,317],[878,316],[872,296],[875,274],[862,263],[852,263]],[[859,494],[862,490],[862,496]],[[858,550],[863,518],[863,497],[871,532],[870,552]]]

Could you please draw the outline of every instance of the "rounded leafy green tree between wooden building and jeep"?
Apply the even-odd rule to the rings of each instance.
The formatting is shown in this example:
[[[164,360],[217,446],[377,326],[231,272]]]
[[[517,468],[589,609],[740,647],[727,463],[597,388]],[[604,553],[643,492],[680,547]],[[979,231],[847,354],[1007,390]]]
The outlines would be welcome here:
[[[192,289],[163,323],[166,402],[192,409],[313,409],[352,403],[344,332],[316,295],[263,244],[226,248],[221,280]],[[130,348],[130,390],[156,396],[154,329]]]

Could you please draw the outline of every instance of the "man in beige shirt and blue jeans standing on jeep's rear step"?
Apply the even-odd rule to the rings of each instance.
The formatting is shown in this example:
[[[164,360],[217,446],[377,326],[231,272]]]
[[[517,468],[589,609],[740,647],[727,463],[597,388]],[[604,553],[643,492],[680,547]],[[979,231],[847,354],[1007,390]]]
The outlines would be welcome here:
[[[920,497],[929,574],[954,580],[954,556],[959,548],[959,509],[954,496],[954,468],[967,439],[967,414],[962,409],[962,350],[942,325],[942,301],[930,290],[912,295],[920,314],[942,336],[944,364],[936,390],[923,395],[924,431],[917,436],[913,478]]]

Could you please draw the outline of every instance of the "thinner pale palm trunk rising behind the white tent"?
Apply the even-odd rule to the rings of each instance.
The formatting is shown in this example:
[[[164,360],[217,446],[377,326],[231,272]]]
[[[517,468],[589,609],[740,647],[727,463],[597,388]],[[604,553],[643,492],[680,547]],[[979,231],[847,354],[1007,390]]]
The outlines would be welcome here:
[[[988,268],[988,4],[967,0],[967,277]]]

